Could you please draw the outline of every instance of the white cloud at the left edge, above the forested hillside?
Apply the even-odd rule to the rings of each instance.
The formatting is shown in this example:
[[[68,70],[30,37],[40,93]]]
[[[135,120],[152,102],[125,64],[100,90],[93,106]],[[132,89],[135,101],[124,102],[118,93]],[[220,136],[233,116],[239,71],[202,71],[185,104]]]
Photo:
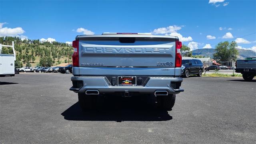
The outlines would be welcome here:
[[[17,27],[17,28],[4,27],[3,28],[4,24],[6,24],[6,22],[0,23],[0,36],[18,36],[18,37],[20,37],[20,34],[23,34],[25,32],[21,27]]]

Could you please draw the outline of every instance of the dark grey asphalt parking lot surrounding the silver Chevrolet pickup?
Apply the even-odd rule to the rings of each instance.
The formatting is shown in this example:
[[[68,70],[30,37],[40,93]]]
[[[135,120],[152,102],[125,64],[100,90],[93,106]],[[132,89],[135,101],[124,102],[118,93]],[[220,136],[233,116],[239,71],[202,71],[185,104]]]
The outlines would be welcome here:
[[[256,81],[184,78],[172,111],[154,97],[107,97],[95,112],[80,110],[72,74],[0,78],[0,142],[246,143],[256,142]]]

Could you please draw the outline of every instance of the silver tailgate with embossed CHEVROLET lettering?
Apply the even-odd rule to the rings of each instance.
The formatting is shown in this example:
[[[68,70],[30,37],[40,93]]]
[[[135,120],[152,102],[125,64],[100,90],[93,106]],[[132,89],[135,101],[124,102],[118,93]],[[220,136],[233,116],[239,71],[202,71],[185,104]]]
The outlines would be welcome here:
[[[79,38],[79,74],[174,76],[175,41],[176,37],[84,36]]]

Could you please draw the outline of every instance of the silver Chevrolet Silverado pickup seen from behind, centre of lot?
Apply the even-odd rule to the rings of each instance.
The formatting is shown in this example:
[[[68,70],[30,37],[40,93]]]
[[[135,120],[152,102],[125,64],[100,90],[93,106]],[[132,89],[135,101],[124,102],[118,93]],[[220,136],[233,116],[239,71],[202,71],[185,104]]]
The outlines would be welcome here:
[[[154,94],[160,108],[171,110],[183,92],[182,43],[176,36],[103,33],[76,36],[73,86],[83,109],[95,106],[98,95]]]

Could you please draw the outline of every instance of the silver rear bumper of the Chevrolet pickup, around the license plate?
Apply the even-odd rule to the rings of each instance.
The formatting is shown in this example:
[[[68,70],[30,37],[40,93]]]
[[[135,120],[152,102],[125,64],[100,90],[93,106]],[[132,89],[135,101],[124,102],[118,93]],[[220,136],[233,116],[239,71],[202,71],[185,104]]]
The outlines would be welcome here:
[[[169,94],[178,94],[184,90],[180,87],[182,78],[149,77],[143,86],[112,86],[104,76],[73,76],[70,90],[85,93],[86,90],[98,90],[100,93],[140,92],[153,94],[156,90],[166,90]],[[78,84],[79,83],[79,84]]]

